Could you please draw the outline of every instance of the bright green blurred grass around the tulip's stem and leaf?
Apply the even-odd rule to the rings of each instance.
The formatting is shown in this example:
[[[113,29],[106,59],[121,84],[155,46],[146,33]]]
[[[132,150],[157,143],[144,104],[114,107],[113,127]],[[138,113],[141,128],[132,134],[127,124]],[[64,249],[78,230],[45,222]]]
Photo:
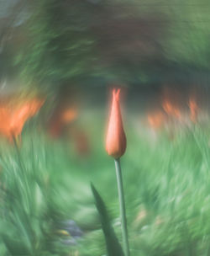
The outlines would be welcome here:
[[[1,143],[0,255],[106,255],[91,182],[121,241],[114,163],[104,151],[102,117],[92,113],[81,119],[91,142],[89,157],[75,152],[71,137],[50,141],[28,124],[20,147],[27,181],[14,147]],[[173,140],[159,131],[153,140],[133,117],[127,124],[121,163],[131,255],[210,255],[207,128],[182,127]],[[65,243],[72,237],[58,233],[58,223],[70,219],[83,232],[74,245]]]

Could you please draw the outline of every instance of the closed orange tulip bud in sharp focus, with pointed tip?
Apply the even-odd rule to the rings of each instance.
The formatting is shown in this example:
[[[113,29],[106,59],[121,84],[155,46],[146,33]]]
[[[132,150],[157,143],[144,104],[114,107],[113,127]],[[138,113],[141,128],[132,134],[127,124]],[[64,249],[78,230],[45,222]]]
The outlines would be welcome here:
[[[126,149],[126,136],[123,131],[123,120],[119,106],[120,89],[113,89],[113,103],[108,122],[106,151],[115,159],[122,157]]]

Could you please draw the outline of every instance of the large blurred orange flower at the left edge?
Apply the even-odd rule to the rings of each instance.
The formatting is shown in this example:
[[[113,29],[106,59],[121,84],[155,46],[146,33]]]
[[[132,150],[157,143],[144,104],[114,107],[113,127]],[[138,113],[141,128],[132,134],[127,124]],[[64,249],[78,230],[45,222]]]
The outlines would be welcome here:
[[[21,134],[25,122],[39,111],[44,100],[34,98],[17,105],[15,103],[15,100],[0,103],[0,134],[9,141]]]

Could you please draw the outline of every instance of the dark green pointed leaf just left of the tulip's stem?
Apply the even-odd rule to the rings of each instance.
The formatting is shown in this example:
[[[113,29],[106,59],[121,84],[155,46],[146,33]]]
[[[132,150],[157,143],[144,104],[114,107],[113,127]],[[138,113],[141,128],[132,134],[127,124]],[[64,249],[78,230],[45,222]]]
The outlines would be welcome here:
[[[93,184],[91,184],[91,187],[92,194],[94,195],[95,203],[97,206],[97,211],[100,215],[100,220],[102,223],[102,232],[106,240],[108,256],[123,256],[123,249],[113,231],[106,205],[104,204],[101,195],[98,194],[97,189],[95,189]]]

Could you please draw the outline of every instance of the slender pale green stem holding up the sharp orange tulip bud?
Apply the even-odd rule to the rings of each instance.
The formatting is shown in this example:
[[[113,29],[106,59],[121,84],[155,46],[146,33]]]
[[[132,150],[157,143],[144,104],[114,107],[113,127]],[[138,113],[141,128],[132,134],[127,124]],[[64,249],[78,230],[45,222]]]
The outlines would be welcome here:
[[[118,199],[119,199],[119,210],[120,210],[121,228],[122,228],[122,236],[123,236],[123,249],[124,249],[125,256],[129,256],[129,239],[128,239],[124,195],[123,195],[123,178],[122,178],[119,158],[114,159],[114,163],[115,163],[116,176],[117,176],[117,182],[118,182]]]

